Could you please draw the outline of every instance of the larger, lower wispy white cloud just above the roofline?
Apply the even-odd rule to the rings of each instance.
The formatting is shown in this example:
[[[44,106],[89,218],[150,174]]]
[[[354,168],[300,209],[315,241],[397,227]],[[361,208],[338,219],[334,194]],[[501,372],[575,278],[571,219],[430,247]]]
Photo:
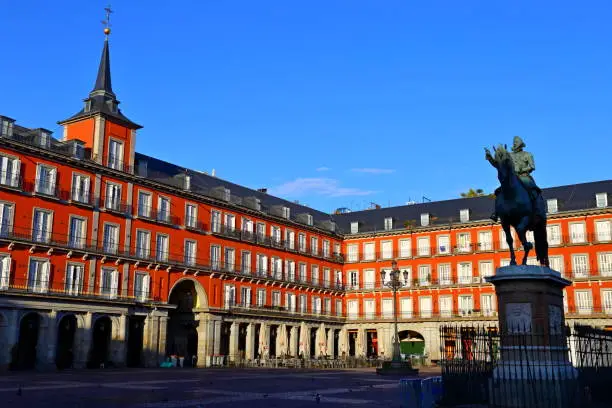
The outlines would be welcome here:
[[[354,187],[341,187],[340,182],[330,178],[297,178],[270,189],[270,194],[279,197],[321,195],[325,197],[364,196],[376,191]]]

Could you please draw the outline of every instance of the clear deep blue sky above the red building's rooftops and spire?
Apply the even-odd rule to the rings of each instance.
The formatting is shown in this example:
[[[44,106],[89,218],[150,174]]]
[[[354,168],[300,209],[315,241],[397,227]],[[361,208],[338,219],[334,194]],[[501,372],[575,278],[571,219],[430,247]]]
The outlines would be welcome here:
[[[81,108],[102,1],[0,1],[0,114]],[[542,187],[612,176],[608,1],[115,1],[137,150],[320,210],[495,188],[521,135]],[[7,62],[8,58],[8,62]]]

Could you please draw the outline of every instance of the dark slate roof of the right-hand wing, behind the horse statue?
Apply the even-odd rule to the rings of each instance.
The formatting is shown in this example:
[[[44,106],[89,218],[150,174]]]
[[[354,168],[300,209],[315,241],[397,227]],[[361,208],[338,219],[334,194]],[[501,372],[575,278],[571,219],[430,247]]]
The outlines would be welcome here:
[[[570,184],[559,187],[544,188],[545,199],[557,199],[558,211],[575,211],[595,208],[595,195],[608,194],[608,204],[611,203],[612,180],[595,181],[581,184]],[[403,229],[404,223],[414,220],[415,226],[420,226],[421,214],[430,214],[430,225],[459,223],[459,212],[470,210],[470,220],[487,220],[493,212],[494,200],[490,197],[458,198],[453,200],[433,201],[398,207],[387,207],[376,210],[356,211],[335,216],[339,230],[345,234],[350,232],[351,222],[359,222],[359,233],[384,230],[384,220],[392,217],[394,228]]]

